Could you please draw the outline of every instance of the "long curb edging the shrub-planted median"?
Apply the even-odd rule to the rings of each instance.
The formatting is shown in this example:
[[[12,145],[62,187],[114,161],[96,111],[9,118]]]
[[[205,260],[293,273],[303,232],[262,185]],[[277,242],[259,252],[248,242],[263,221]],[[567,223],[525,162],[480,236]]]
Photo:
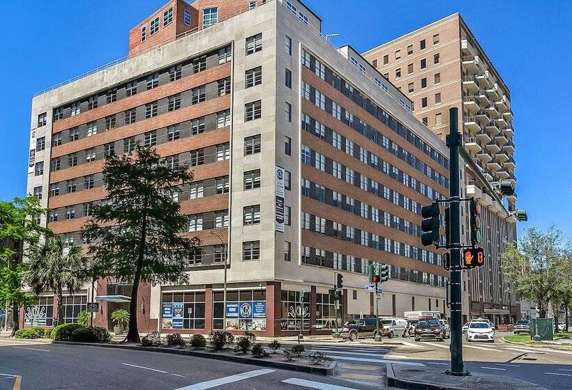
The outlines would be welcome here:
[[[172,350],[171,348],[162,348],[162,347],[142,347],[140,345],[75,343],[74,341],[52,341],[52,344],[87,345],[89,347],[99,347],[99,348],[117,348],[120,350],[124,349],[124,350],[136,350],[136,351],[147,351],[147,352],[160,352],[168,354],[179,354],[184,356],[203,357],[206,359],[233,361],[235,363],[253,364],[255,366],[280,368],[283,370],[292,370],[292,371],[298,371],[302,373],[310,373],[316,375],[333,375],[333,371],[336,369],[336,364],[337,364],[337,362],[334,360],[329,364],[329,366],[323,366],[323,367],[314,367],[307,365],[303,366],[301,364],[288,363],[287,361],[267,361],[250,357],[236,356],[236,355],[213,354],[210,352],[201,352],[192,350]]]

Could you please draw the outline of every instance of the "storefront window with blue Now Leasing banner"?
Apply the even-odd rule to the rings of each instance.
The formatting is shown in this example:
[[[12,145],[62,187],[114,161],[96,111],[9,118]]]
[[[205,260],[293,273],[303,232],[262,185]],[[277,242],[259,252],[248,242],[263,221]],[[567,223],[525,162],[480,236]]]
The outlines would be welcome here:
[[[213,292],[213,328],[223,329],[224,295]],[[227,330],[266,330],[266,290],[227,291]]]

